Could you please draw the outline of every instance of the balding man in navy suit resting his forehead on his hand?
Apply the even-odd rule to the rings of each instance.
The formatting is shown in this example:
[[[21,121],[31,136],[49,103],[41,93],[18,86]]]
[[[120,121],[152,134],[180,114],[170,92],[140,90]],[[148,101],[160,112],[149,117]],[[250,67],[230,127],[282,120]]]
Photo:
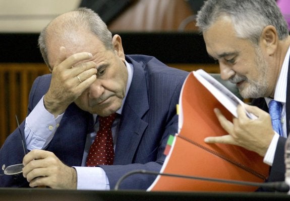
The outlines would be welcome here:
[[[121,37],[85,8],[52,20],[39,47],[51,74],[34,81],[20,125],[30,152],[24,156],[15,130],[0,164],[23,162],[23,175],[1,176],[0,186],[112,189],[132,170],[159,171],[168,135],[178,130],[176,105],[188,72],[151,56],[125,55]],[[102,136],[96,133],[107,120],[109,157],[97,159],[103,146],[95,144]],[[146,189],[154,179],[132,175],[120,188]]]

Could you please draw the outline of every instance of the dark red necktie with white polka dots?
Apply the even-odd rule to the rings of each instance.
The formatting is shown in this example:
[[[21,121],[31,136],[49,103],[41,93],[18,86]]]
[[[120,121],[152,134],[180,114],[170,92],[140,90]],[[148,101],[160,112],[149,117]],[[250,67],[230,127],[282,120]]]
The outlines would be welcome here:
[[[99,118],[99,130],[90,147],[86,166],[112,165],[114,159],[114,146],[112,138],[112,123],[116,114]]]

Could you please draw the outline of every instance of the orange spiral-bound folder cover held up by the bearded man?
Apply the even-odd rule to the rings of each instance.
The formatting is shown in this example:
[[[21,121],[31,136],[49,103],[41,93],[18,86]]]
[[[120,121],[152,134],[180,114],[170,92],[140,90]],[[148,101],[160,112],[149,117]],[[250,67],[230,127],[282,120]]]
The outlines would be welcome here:
[[[214,112],[219,108],[232,120],[233,115],[201,84],[193,73],[187,77],[181,93],[183,124],[173,140],[162,173],[196,177],[264,182],[269,166],[257,153],[226,144],[207,144],[208,136],[226,135]],[[152,191],[254,191],[258,187],[158,176],[148,188]]]

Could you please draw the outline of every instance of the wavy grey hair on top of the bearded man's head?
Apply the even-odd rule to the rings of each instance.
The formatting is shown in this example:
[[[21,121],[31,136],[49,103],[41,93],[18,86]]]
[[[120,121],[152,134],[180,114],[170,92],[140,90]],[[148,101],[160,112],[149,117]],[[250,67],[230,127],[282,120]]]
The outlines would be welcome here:
[[[263,29],[272,25],[279,40],[289,35],[287,23],[274,0],[208,0],[197,14],[197,26],[205,32],[221,16],[233,21],[237,36],[259,43]]]

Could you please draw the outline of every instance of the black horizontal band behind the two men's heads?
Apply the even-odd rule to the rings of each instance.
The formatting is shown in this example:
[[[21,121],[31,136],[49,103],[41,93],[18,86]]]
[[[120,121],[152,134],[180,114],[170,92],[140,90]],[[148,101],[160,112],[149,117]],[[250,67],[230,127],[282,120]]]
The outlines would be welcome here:
[[[164,63],[213,63],[203,37],[186,32],[118,33],[125,54],[145,54]],[[38,33],[1,33],[0,62],[42,63],[37,46]]]

